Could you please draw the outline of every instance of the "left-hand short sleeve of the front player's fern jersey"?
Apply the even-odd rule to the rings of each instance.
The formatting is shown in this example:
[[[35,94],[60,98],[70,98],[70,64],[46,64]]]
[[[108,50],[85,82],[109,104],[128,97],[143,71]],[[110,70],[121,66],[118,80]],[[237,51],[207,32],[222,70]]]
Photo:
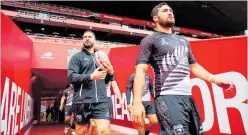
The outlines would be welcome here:
[[[140,43],[136,64],[150,64],[152,55],[152,38],[145,37]]]

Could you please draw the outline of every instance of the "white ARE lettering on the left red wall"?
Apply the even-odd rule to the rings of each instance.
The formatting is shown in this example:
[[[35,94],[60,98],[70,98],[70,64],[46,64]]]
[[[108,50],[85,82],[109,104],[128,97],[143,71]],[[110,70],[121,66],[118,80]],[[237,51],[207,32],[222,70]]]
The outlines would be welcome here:
[[[19,103],[19,98],[21,98],[21,103]],[[6,77],[1,101],[0,134],[17,134],[19,130],[32,120],[32,106],[32,97],[17,86],[15,82],[11,82]],[[17,119],[19,114],[20,118]]]

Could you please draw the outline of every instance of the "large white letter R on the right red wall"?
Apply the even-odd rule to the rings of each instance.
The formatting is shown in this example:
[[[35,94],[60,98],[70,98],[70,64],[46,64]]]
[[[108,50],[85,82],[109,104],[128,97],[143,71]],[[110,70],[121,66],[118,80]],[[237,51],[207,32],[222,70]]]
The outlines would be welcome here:
[[[232,133],[230,129],[227,108],[236,108],[241,114],[246,134],[248,134],[246,126],[248,120],[248,104],[243,103],[245,100],[248,99],[246,78],[237,72],[228,72],[219,74],[217,76],[232,81],[236,87],[235,97],[225,99],[223,89],[215,84],[212,84],[220,132],[226,134]]]

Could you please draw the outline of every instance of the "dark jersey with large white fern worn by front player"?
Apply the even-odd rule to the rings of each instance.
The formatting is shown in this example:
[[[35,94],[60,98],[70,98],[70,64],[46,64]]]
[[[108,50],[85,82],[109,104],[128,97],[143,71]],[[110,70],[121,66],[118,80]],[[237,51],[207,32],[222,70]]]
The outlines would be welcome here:
[[[182,36],[154,32],[140,44],[136,64],[151,64],[155,94],[191,95],[190,64],[196,63],[189,42]]]

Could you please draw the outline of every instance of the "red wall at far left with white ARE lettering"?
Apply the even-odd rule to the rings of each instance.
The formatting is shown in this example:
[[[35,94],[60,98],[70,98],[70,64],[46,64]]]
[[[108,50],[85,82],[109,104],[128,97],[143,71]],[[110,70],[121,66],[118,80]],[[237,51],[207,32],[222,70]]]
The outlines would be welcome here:
[[[32,123],[32,49],[33,42],[1,13],[1,135],[23,134]]]

